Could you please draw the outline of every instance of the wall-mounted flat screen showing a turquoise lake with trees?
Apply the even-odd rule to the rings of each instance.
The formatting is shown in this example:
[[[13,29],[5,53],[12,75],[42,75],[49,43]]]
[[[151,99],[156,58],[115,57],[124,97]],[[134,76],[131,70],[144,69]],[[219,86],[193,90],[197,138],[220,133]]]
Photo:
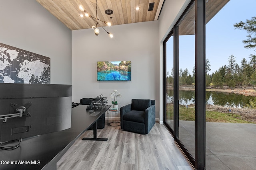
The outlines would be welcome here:
[[[98,81],[131,81],[131,61],[98,61]]]

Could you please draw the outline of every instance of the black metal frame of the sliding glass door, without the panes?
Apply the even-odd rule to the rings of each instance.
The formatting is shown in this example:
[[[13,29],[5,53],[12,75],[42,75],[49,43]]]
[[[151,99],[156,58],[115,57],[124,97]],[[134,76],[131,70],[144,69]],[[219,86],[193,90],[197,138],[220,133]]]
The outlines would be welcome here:
[[[178,138],[179,127],[179,94],[178,94],[178,25],[182,17],[188,12],[190,7],[195,3],[195,159],[188,152],[186,147],[182,145]],[[166,42],[170,36],[174,36],[174,129],[166,123]],[[163,42],[164,51],[164,124],[172,133],[174,141],[179,145],[188,160],[197,170],[204,170],[206,167],[206,151],[205,151],[205,0],[191,0],[190,4],[174,25],[168,36]]]

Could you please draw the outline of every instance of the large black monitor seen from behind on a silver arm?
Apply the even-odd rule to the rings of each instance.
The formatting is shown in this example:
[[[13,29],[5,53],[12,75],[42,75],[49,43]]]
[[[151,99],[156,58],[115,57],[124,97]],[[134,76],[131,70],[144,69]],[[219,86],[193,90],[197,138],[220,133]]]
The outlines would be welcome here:
[[[72,85],[0,83],[0,142],[70,128],[71,106]]]

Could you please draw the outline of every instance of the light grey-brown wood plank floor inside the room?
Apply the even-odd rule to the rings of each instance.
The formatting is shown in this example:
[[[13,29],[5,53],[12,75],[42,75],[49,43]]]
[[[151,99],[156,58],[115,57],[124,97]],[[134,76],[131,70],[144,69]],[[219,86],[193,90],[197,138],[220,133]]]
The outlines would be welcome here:
[[[57,162],[58,170],[194,170],[163,124],[148,135],[105,125],[98,129],[108,141],[82,141],[86,131]]]

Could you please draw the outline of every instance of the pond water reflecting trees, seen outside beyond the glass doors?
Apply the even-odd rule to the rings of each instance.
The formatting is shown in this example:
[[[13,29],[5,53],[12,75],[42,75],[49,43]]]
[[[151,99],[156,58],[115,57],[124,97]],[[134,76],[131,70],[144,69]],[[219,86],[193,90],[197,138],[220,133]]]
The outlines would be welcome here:
[[[195,91],[180,90],[179,95],[179,104],[195,104]],[[249,104],[249,100],[253,98],[252,96],[244,96],[241,94],[206,91],[206,104],[210,105],[240,108]],[[168,90],[167,103],[173,103],[173,90]]]

